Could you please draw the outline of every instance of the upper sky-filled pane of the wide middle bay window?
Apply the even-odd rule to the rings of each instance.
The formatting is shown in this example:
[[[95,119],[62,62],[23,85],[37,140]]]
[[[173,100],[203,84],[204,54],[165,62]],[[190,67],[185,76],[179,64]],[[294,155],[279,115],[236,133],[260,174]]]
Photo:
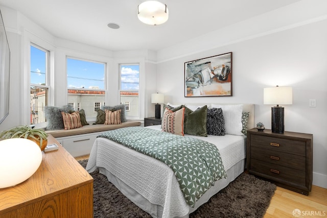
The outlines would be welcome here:
[[[67,88],[104,89],[105,64],[67,58]]]

